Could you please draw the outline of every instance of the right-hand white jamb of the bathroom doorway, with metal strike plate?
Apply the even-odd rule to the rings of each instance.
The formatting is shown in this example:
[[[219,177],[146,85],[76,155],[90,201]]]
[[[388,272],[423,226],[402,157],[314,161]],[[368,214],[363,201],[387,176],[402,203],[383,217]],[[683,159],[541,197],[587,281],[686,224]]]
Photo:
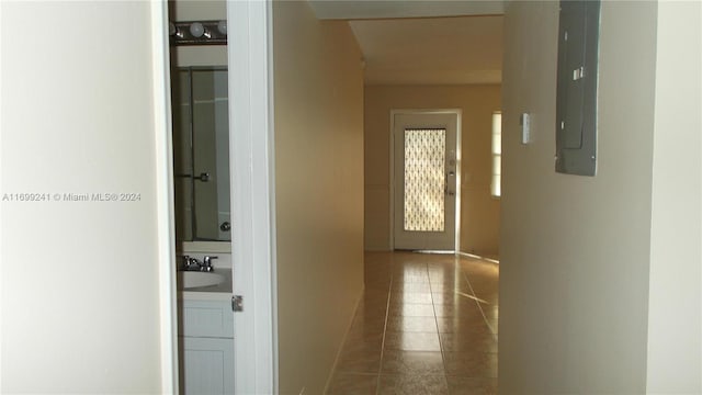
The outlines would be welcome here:
[[[278,394],[272,1],[227,0],[227,26],[235,394]]]

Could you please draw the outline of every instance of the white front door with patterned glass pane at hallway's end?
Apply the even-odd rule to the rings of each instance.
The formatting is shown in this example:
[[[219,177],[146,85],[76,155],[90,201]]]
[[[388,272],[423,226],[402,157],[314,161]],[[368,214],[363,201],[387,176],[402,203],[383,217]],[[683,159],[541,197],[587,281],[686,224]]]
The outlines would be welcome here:
[[[395,113],[394,248],[455,250],[457,113]]]

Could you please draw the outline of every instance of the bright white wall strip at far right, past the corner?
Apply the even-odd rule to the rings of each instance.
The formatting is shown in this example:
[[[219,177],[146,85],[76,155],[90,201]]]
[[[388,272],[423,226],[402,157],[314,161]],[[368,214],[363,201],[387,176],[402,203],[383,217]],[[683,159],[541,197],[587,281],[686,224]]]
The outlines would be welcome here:
[[[702,394],[702,7],[658,3],[649,394]]]

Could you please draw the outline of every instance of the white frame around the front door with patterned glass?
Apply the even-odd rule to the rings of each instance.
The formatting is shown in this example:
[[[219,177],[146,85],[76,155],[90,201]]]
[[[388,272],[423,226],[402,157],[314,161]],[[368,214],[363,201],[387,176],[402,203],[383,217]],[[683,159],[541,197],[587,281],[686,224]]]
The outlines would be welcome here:
[[[456,207],[455,207],[455,240],[454,253],[461,250],[461,145],[462,145],[462,125],[461,117],[463,111],[461,109],[394,109],[390,110],[390,129],[389,129],[389,250],[395,250],[395,115],[422,115],[422,114],[446,114],[456,117]]]

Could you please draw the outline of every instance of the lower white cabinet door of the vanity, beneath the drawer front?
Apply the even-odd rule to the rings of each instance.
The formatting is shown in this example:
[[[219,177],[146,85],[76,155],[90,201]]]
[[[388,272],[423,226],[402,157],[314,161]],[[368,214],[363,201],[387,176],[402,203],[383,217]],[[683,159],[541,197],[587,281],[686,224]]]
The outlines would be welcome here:
[[[234,394],[234,339],[180,338],[181,394]]]

